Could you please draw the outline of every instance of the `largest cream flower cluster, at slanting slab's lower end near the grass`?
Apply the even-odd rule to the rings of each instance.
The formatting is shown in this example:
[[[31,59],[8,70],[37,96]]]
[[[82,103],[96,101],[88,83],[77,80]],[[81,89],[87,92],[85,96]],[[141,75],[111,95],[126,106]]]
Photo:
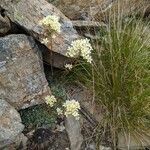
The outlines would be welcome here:
[[[92,62],[91,51],[93,50],[89,39],[75,40],[67,49],[67,56],[76,57],[82,56],[87,62]]]

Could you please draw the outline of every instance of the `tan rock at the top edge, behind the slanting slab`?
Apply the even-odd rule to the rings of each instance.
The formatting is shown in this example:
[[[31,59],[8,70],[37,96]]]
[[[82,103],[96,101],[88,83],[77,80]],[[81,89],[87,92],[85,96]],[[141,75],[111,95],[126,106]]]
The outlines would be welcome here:
[[[97,13],[112,4],[112,0],[58,0],[57,6],[71,20],[94,20]]]

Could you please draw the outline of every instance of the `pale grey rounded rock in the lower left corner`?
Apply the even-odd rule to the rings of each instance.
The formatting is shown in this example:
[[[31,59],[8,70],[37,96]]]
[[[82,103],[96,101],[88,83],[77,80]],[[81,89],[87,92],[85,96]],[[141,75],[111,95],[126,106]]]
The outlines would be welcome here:
[[[23,129],[19,113],[5,100],[0,99],[0,149],[16,142]]]

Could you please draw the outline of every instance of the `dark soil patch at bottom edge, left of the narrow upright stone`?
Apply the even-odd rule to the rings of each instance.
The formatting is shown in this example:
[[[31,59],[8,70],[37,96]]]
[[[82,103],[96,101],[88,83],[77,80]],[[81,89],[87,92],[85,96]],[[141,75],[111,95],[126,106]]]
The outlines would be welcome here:
[[[39,128],[29,139],[27,150],[65,150],[69,148],[69,139],[66,131],[51,131]]]

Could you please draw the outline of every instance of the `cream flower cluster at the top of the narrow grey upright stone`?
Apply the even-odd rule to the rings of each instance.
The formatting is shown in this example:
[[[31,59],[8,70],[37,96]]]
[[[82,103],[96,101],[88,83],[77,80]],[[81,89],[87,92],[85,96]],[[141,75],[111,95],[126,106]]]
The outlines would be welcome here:
[[[64,103],[64,108],[65,108],[65,116],[67,117],[68,115],[74,116],[77,120],[79,120],[79,109],[80,109],[80,104],[76,100],[67,100]]]

